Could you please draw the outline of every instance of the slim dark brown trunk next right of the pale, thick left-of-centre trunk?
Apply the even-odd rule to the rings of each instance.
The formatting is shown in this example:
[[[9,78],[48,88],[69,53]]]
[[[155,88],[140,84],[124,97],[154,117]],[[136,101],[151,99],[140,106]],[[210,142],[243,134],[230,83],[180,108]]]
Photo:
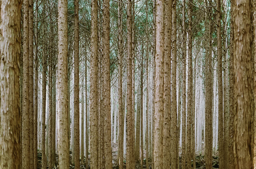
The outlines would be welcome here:
[[[79,144],[79,26],[78,26],[78,0],[74,0],[75,25],[74,25],[74,147],[75,147],[75,169],[80,165],[80,144]]]

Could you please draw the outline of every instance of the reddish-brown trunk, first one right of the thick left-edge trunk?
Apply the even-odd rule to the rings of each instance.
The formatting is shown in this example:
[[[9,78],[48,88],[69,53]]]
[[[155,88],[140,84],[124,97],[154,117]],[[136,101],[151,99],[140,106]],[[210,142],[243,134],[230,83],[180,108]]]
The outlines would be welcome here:
[[[29,143],[29,13],[28,0],[23,2],[23,113],[22,113],[22,160],[23,168],[30,168],[30,143]]]

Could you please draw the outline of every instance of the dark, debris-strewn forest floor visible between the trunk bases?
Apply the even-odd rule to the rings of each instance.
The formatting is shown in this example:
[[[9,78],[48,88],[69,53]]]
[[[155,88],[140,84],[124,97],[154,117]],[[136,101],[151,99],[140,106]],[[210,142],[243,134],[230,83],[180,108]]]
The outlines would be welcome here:
[[[146,152],[144,152],[143,156],[146,157]],[[37,168],[41,169],[42,168],[42,153],[39,151],[37,153],[37,158],[38,158]],[[72,158],[72,153],[70,151],[70,161],[71,161],[71,158]],[[218,156],[213,156],[212,158],[213,158],[212,159],[212,169],[219,168]],[[179,160],[180,160],[180,169],[181,169],[181,149],[179,152]],[[56,154],[56,161],[58,162],[58,154]],[[88,155],[88,163],[89,163],[89,168],[90,168],[90,154]],[[117,144],[112,144],[112,164],[113,164],[113,169],[118,169]],[[149,164],[149,169],[151,169],[152,161],[149,160],[148,164]],[[74,165],[70,165],[70,169],[73,169],[73,168],[74,168]],[[126,168],[126,160],[124,160],[124,168]],[[140,168],[141,168],[140,164],[135,165],[135,169],[140,169]],[[146,168],[146,159],[145,158],[144,158],[143,168]],[[54,166],[54,169],[58,169],[58,165]],[[80,165],[80,169],[85,169],[85,165]],[[196,155],[196,169],[205,169],[204,155],[201,155],[201,154]]]

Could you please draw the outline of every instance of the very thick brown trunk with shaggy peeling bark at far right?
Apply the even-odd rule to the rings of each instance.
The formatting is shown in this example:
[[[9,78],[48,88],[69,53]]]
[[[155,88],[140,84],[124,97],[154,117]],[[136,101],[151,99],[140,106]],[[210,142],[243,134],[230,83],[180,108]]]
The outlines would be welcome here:
[[[252,169],[251,2],[234,2],[234,162],[236,169]]]

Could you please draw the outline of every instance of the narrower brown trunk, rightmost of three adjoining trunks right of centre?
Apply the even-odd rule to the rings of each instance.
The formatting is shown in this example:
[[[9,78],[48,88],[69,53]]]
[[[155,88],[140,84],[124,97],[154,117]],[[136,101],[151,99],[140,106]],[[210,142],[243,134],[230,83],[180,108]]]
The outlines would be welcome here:
[[[172,1],[172,102],[171,102],[171,168],[178,168],[179,163],[179,138],[177,122],[177,28],[176,28],[176,0]]]

